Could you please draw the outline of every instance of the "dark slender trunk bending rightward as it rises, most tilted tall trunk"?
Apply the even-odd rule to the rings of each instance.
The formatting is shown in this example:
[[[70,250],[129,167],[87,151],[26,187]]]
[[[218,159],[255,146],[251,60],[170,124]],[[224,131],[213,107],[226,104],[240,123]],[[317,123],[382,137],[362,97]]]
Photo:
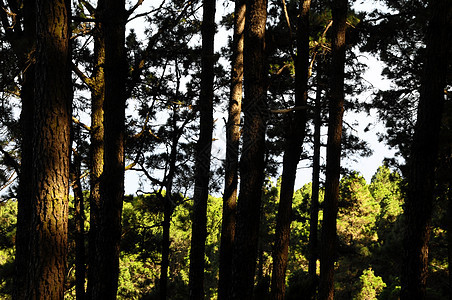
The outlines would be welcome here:
[[[306,135],[306,105],[309,78],[309,10],[311,0],[300,2],[297,27],[297,58],[295,65],[295,111],[289,113],[285,140],[281,194],[273,249],[273,273],[271,283],[272,299],[284,299],[286,290],[286,269],[289,255],[290,223],[292,222],[292,197],[297,165]],[[303,107],[301,109],[301,107]]]

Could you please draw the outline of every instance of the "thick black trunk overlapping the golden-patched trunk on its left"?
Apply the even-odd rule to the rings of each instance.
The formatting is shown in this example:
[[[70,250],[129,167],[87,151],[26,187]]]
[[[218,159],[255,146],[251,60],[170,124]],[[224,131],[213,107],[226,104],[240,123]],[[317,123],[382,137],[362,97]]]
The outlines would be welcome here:
[[[101,14],[105,42],[104,170],[101,180],[100,255],[91,299],[116,299],[124,196],[125,0],[110,0]]]

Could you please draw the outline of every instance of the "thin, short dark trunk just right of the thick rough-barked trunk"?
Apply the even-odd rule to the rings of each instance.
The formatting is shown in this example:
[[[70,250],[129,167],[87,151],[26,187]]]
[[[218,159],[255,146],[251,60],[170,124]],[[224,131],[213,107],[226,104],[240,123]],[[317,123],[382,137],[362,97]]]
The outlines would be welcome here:
[[[79,143],[80,129],[74,129],[74,140]],[[74,192],[75,203],[75,295],[77,300],[85,299],[85,205],[83,188],[81,182],[80,148],[73,151],[73,161],[71,163],[71,186]]]

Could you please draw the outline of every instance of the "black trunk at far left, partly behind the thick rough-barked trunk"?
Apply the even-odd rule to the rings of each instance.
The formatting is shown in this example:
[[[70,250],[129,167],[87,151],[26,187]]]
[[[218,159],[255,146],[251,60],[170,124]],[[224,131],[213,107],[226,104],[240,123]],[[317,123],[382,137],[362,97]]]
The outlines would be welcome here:
[[[18,187],[18,209],[16,229],[16,257],[15,257],[15,283],[14,299],[25,299],[26,276],[24,270],[28,269],[30,253],[30,229],[32,220],[32,170],[33,170],[33,115],[34,115],[34,80],[35,61],[33,57],[36,40],[35,1],[23,1],[23,36],[20,40],[23,47],[13,45],[14,52],[19,58],[23,71],[20,97],[22,111],[20,114],[21,128],[21,164]]]

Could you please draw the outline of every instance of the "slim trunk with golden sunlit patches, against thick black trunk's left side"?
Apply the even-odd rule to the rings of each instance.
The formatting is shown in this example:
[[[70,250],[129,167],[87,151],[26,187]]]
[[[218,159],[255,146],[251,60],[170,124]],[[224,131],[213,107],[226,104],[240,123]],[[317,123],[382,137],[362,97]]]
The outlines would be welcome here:
[[[101,18],[105,0],[98,0],[96,19]],[[91,131],[90,131],[90,229],[88,234],[88,287],[87,298],[93,299],[94,283],[99,280],[100,258],[100,180],[104,168],[104,97],[105,97],[105,42],[102,36],[102,22],[97,22],[93,29],[94,64],[91,75]]]

